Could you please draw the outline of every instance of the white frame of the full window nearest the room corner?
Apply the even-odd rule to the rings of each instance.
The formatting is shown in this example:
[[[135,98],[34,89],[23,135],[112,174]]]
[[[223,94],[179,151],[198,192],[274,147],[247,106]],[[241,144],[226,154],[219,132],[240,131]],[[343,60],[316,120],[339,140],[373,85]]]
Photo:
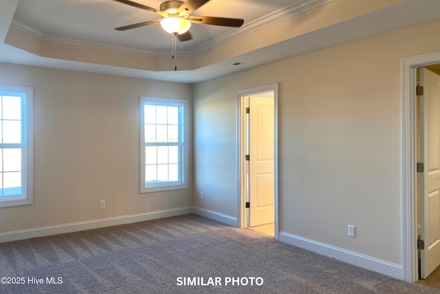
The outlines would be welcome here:
[[[161,182],[146,185],[145,183],[145,129],[144,105],[179,105],[179,181]],[[166,143],[161,143],[166,145]],[[184,99],[158,98],[140,96],[140,193],[168,191],[188,188],[188,102]]]

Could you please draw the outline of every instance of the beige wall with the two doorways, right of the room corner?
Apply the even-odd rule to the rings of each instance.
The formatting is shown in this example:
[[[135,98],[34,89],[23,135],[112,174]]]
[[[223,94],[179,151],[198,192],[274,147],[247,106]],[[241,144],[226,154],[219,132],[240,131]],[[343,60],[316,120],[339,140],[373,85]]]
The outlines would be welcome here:
[[[194,87],[195,205],[237,216],[236,93],[279,83],[280,230],[401,264],[401,58],[440,20]],[[331,37],[331,36],[329,36]],[[357,237],[347,237],[347,225]]]

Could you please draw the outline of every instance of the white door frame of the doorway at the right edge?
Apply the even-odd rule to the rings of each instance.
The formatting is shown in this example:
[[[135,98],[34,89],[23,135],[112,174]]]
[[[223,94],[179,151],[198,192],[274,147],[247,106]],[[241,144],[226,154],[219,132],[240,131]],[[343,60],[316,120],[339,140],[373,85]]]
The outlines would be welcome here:
[[[402,269],[403,280],[418,280],[417,258],[417,67],[440,63],[440,51],[401,60],[402,96]]]

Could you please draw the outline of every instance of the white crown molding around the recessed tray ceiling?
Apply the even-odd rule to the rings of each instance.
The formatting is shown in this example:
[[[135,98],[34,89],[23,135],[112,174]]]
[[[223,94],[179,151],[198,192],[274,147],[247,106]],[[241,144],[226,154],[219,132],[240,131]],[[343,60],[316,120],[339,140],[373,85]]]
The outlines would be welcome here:
[[[236,28],[235,30],[231,30],[229,32],[226,32],[225,34],[221,34],[220,36],[217,36],[215,39],[212,39],[211,41],[203,43],[200,46],[197,46],[197,48],[195,48],[194,50],[181,51],[179,52],[179,55],[195,56],[197,54],[200,54],[201,52],[210,50],[223,43],[227,43],[241,36],[244,36],[245,34],[250,34],[251,32],[260,30],[261,28],[264,28],[267,25],[271,25],[272,23],[276,23],[277,21],[282,21],[283,19],[287,19],[288,17],[292,17],[295,14],[305,12],[306,10],[315,8],[330,1],[332,0],[300,0],[292,4],[291,6],[288,6],[287,8],[282,8],[280,10],[267,14],[264,17],[260,17],[255,21],[247,23],[243,25],[241,28]],[[81,39],[69,38],[66,36],[44,34],[43,32],[40,32],[39,30],[35,30],[34,28],[31,28],[30,26],[20,23],[19,21],[16,20],[12,20],[11,27],[20,30],[21,32],[25,32],[26,34],[30,34],[31,36],[34,36],[38,39],[43,39],[45,41],[54,41],[54,42],[72,44],[72,45],[98,48],[103,50],[112,50],[112,51],[118,51],[124,53],[140,54],[149,57],[166,57],[169,55],[168,53],[163,53],[163,52],[158,53],[150,50],[140,50],[128,46],[110,45],[107,43],[98,43],[93,41],[85,41]]]

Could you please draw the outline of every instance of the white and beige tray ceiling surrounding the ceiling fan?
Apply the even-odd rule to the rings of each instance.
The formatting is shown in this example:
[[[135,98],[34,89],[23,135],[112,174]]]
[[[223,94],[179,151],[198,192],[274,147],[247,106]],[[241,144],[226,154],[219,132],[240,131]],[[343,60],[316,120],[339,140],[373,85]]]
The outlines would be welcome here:
[[[162,2],[160,0],[133,1],[153,8],[159,8]],[[336,17],[333,14],[338,14],[339,11],[332,9],[330,5],[335,7],[346,5],[354,13],[363,6],[371,3],[377,6],[377,3],[381,2],[386,5],[371,11],[365,9],[365,13],[353,14],[353,18],[346,18],[344,21],[278,41],[267,41],[273,39],[272,33],[264,31],[265,27],[269,28],[268,25],[277,21],[296,17],[300,13],[307,16],[307,13],[309,11],[311,13],[312,10],[315,14],[310,14],[311,17],[316,17],[318,14],[324,19]],[[342,13],[342,10],[340,11]],[[262,33],[258,39],[252,39],[250,43],[253,44],[250,45],[249,50],[232,48],[227,54],[223,54],[224,56],[217,54],[218,58],[216,56],[215,59],[212,58],[201,66],[188,65],[188,69],[177,72],[171,69],[142,70],[130,66],[95,63],[88,59],[87,61],[74,61],[63,57],[42,57],[26,50],[25,45],[22,47],[3,42],[6,34],[14,29],[40,40],[140,54],[154,59],[170,59],[171,35],[164,32],[158,23],[125,32],[114,30],[122,25],[158,19],[158,14],[113,0],[0,0],[0,62],[196,83],[289,56],[438,18],[440,17],[440,1],[210,0],[192,15],[239,18],[244,19],[245,23],[241,28],[193,24],[190,29],[193,39],[177,43],[178,59],[179,56],[180,58],[187,56],[188,60],[195,60],[198,56],[228,41],[245,39],[254,32],[261,31]],[[304,19],[307,22],[307,17]],[[310,21],[313,22],[314,19]],[[307,23],[301,23],[301,25],[307,25]],[[295,28],[286,28],[286,30],[286,34],[293,35]],[[278,34],[280,32],[274,32],[274,35]],[[229,65],[235,61],[242,64],[236,67]]]

